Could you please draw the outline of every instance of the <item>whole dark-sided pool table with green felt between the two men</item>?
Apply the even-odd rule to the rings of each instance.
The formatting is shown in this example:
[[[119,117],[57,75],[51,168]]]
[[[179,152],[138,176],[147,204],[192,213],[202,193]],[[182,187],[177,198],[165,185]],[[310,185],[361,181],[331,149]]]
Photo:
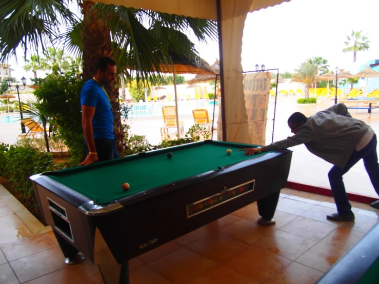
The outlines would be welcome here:
[[[129,283],[131,258],[254,201],[261,216],[274,216],[292,151],[237,151],[253,146],[205,140],[31,180],[65,262],[84,255],[99,265],[106,283]]]

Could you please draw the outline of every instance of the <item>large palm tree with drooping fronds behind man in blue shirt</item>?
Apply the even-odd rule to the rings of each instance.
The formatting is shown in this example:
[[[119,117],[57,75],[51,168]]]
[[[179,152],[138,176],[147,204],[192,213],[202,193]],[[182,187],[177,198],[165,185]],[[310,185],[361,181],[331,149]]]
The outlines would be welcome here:
[[[213,21],[77,1],[82,8],[83,20],[69,10],[69,0],[1,1],[0,62],[14,55],[19,46],[24,48],[25,55],[29,48],[36,53],[38,47],[46,53],[49,43],[63,40],[70,52],[83,57],[85,80],[93,76],[98,58],[108,56],[115,59],[119,76],[131,80],[133,72],[127,69],[131,68],[137,70],[138,81],[145,81],[149,75],[159,77],[159,63],[171,63],[170,54],[165,49],[168,44],[174,43],[176,54],[196,54],[193,45],[179,42],[178,32],[183,34],[192,30],[202,41],[217,35]],[[68,30],[59,32],[58,23],[68,26]],[[110,87],[107,92],[117,122],[118,87]]]

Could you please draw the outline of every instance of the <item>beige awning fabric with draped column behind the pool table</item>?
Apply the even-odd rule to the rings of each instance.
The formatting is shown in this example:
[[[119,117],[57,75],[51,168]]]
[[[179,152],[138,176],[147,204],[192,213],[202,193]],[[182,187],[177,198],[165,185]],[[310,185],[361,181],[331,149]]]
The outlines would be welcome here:
[[[226,140],[247,143],[251,141],[243,86],[241,64],[242,36],[248,12],[275,6],[290,0],[221,0],[222,54],[224,67],[224,93]],[[105,4],[143,8],[169,14],[217,21],[216,0],[94,0]],[[257,43],[262,44],[262,43]],[[221,116],[220,116],[221,118]],[[219,120],[219,123],[221,119]],[[218,139],[222,140],[222,127],[218,127]]]

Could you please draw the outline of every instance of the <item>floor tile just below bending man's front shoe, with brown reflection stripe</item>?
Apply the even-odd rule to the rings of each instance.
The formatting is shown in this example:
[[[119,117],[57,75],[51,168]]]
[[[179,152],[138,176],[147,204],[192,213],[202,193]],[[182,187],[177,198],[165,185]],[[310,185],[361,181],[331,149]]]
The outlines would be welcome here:
[[[323,238],[320,243],[349,251],[364,235],[361,232],[337,227]]]

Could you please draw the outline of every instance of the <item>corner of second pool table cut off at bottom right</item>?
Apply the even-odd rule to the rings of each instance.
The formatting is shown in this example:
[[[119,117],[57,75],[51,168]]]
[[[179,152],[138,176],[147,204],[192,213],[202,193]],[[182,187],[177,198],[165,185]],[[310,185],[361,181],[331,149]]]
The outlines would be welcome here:
[[[379,283],[379,222],[317,284]]]

